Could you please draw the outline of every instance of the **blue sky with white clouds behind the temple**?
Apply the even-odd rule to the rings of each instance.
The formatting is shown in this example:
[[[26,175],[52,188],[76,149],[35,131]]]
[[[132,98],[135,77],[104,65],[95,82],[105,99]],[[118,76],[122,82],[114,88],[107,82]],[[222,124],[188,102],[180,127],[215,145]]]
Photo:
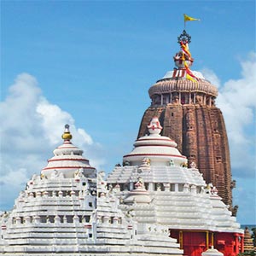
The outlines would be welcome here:
[[[2,1],[1,210],[39,173],[65,124],[92,166],[131,151],[148,88],[172,70],[183,13],[193,69],[218,87],[238,221],[255,220],[255,1]]]

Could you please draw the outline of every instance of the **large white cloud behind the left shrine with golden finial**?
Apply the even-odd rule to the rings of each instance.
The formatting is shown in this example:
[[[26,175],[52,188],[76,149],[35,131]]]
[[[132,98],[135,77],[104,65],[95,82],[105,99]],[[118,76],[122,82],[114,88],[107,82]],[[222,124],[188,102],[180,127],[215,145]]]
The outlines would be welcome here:
[[[95,152],[95,143],[84,129],[76,128],[70,113],[47,101],[38,87],[37,79],[21,73],[10,86],[9,95],[0,102],[0,132],[2,136],[1,204],[14,202],[27,180],[46,166],[47,157],[61,144],[64,125],[69,124],[73,143],[86,152],[90,164],[98,168],[104,163]]]

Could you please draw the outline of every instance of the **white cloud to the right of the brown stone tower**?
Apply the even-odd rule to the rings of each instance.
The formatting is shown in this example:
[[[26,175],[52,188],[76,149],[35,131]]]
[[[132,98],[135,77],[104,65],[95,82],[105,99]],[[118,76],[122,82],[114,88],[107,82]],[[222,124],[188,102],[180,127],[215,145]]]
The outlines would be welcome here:
[[[206,79],[218,77],[208,69]],[[256,54],[241,61],[241,79],[230,79],[218,89],[217,106],[224,113],[233,175],[255,175]],[[209,76],[208,76],[209,75]],[[212,81],[211,81],[212,82]],[[213,84],[213,82],[212,82]]]

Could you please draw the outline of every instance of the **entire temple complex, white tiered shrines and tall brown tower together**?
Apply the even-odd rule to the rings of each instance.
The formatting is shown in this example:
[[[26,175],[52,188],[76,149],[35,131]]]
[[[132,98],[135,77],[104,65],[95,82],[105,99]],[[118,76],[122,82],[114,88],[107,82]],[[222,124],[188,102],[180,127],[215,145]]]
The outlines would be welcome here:
[[[244,232],[231,210],[230,154],[217,88],[190,69],[190,36],[176,67],[149,89],[151,106],[123,164],[97,172],[63,143],[0,216],[0,254],[236,256]],[[233,214],[232,214],[233,213]],[[235,212],[236,213],[236,212]]]

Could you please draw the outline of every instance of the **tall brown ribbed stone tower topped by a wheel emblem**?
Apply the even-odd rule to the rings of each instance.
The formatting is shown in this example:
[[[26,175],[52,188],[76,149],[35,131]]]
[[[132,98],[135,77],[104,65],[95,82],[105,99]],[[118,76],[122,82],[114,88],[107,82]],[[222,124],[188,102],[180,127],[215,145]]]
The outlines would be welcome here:
[[[191,71],[190,36],[183,31],[178,37],[181,50],[174,56],[176,67],[153,84],[148,94],[151,106],[143,114],[138,137],[156,116],[163,126],[162,135],[171,137],[178,150],[194,162],[207,183],[213,183],[218,195],[232,209],[230,150],[224,117],[215,106],[217,88],[201,73]],[[236,209],[233,212],[236,215]]]

